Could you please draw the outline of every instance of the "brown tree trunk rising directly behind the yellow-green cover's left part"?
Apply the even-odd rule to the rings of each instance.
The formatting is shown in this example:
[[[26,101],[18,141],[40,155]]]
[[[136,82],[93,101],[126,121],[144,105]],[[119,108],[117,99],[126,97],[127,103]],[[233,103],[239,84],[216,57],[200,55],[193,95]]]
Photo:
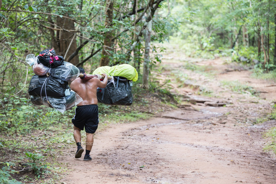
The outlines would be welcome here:
[[[106,1],[106,21],[105,28],[110,28],[113,19],[113,0]],[[112,51],[112,31],[105,32],[103,50],[101,52],[100,66],[107,66],[109,64],[110,51]]]

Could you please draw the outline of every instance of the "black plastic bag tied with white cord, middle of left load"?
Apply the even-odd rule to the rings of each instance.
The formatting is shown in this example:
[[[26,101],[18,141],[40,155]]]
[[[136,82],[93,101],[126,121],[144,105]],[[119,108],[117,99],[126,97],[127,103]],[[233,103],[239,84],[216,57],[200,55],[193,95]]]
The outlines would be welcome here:
[[[52,76],[34,75],[30,81],[28,92],[33,96],[63,97],[66,89],[69,89],[66,81]]]

